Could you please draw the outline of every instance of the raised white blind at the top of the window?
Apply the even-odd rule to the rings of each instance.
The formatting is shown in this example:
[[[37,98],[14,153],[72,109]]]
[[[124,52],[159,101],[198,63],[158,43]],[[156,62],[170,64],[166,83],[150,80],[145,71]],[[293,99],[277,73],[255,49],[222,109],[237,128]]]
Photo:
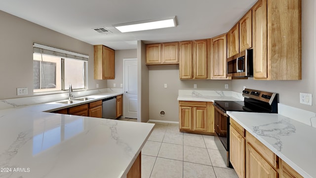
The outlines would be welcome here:
[[[88,58],[89,58],[88,55],[79,54],[77,52],[67,51],[64,49],[58,49],[55,47],[40,45],[36,43],[34,43],[33,45],[33,52],[39,53],[39,54],[58,56],[58,57],[63,57],[63,58],[78,59],[78,60],[83,60],[83,61],[88,61]]]

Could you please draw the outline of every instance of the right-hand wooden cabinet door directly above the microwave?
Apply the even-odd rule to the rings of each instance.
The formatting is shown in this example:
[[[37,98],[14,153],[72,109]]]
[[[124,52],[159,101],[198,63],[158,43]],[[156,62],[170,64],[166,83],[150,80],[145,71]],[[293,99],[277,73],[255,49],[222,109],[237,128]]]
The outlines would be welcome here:
[[[239,22],[240,52],[252,47],[252,10],[249,10]]]

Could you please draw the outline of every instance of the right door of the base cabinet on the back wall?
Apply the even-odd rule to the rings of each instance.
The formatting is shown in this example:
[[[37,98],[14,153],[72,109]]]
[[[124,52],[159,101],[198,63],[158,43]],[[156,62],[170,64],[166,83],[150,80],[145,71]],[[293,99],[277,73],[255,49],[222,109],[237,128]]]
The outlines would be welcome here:
[[[207,131],[207,109],[206,107],[194,107],[193,120],[195,131]]]

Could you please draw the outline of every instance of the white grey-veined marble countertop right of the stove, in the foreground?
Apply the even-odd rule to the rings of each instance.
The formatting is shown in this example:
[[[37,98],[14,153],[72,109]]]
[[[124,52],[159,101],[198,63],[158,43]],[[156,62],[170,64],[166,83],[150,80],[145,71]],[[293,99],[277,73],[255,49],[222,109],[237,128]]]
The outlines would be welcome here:
[[[316,178],[316,128],[280,114],[227,114],[304,178]]]

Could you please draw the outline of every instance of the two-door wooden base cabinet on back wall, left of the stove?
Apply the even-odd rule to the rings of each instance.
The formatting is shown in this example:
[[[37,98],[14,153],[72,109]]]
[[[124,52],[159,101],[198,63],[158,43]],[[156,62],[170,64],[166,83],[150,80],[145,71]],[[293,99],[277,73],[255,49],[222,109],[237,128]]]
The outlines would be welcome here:
[[[214,133],[212,102],[179,101],[180,131]]]

